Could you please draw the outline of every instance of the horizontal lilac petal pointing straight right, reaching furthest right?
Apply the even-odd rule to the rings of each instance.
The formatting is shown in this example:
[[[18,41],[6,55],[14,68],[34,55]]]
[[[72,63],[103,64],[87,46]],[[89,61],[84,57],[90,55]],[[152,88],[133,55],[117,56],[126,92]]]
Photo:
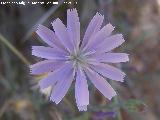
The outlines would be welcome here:
[[[126,53],[100,53],[93,54],[92,57],[98,60],[98,62],[120,63],[129,61]]]

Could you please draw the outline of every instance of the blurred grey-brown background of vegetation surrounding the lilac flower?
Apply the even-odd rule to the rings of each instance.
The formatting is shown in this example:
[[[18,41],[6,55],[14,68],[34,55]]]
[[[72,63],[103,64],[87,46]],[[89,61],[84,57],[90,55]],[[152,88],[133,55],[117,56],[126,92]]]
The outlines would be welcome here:
[[[126,42],[116,50],[130,54],[130,61],[119,65],[127,74],[125,82],[112,83],[118,96],[108,101],[90,85],[87,112],[77,110],[74,85],[55,105],[36,86],[42,76],[29,72],[29,64],[40,60],[31,55],[31,46],[44,45],[34,32],[37,25],[52,29],[50,23],[57,17],[66,24],[66,11],[74,7],[79,12],[81,36],[99,11],[105,16],[104,24],[110,22],[116,27],[115,33],[124,35]],[[159,91],[160,0],[0,4],[0,120],[160,120]]]

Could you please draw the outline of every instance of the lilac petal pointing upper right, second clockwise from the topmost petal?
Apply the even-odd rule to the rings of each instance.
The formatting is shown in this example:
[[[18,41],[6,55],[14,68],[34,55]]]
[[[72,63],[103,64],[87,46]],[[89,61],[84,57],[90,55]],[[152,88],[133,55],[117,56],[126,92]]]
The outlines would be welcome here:
[[[114,27],[111,24],[107,24],[100,31],[98,31],[92,39],[90,39],[84,49],[89,51],[89,49],[93,46],[97,46],[98,44],[102,43],[109,35],[111,35],[113,30]]]

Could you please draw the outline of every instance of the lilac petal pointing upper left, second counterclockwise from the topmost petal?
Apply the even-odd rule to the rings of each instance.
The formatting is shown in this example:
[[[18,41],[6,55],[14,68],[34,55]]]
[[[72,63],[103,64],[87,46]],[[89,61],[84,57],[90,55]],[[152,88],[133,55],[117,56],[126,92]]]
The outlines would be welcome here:
[[[44,42],[46,42],[51,47],[59,47],[63,49],[62,44],[58,40],[55,33],[52,30],[48,29],[47,27],[39,25],[36,33],[41,37],[41,39]]]

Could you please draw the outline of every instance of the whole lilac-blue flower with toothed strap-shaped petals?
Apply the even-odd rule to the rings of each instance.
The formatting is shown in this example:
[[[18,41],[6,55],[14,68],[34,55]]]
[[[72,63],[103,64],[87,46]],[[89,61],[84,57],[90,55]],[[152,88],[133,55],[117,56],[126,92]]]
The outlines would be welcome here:
[[[44,74],[40,89],[51,89],[50,100],[58,104],[75,80],[78,109],[86,111],[89,105],[87,79],[109,100],[116,95],[109,78],[123,82],[125,73],[109,65],[129,60],[128,54],[112,53],[124,39],[121,34],[111,35],[114,27],[102,27],[104,16],[97,13],[80,39],[80,22],[76,9],[67,10],[67,27],[60,19],[52,22],[54,31],[39,25],[36,33],[49,47],[33,46],[32,55],[45,60],[31,65],[31,74]]]

